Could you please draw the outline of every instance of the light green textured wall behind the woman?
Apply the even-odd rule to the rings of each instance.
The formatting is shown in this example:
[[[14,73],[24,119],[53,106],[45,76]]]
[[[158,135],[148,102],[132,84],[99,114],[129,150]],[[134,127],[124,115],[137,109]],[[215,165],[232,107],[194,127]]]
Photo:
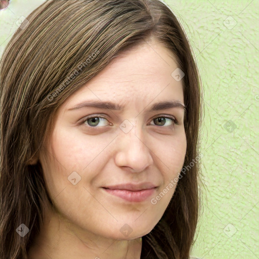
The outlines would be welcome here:
[[[23,17],[43,2],[12,0],[0,11],[0,55]],[[204,88],[201,153],[207,188],[192,254],[258,259],[259,1],[165,3],[186,30]]]

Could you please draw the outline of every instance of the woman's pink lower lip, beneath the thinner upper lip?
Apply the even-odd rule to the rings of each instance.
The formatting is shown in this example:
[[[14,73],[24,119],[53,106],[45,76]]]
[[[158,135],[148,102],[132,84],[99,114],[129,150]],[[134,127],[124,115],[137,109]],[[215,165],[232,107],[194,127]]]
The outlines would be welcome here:
[[[131,201],[131,202],[144,201],[155,192],[155,188],[135,191],[135,192],[128,191],[128,190],[119,190],[119,189],[115,189],[115,190],[105,189],[105,188],[103,189],[114,196],[120,197],[124,200]]]

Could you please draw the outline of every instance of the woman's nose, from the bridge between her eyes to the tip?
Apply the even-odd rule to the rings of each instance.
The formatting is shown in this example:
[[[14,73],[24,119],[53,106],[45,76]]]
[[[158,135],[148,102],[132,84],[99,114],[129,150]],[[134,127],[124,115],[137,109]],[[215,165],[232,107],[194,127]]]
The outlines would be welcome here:
[[[145,138],[145,132],[137,119],[124,120],[120,124],[119,145],[116,153],[118,166],[131,167],[132,171],[140,172],[153,163],[151,151]]]

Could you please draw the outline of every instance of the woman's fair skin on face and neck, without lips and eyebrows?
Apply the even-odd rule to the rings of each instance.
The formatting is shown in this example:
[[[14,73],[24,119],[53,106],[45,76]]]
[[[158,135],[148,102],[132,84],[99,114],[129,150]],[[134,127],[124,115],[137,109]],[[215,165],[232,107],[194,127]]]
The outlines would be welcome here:
[[[169,50],[154,39],[114,59],[59,108],[49,156],[40,156],[44,178],[55,207],[29,251],[30,259],[133,259],[140,258],[142,239],[161,219],[176,185],[186,154],[184,110],[150,112],[156,102],[184,105],[182,80],[171,73],[178,67]],[[122,111],[81,108],[88,100],[123,105]],[[88,115],[103,115],[94,123]],[[155,118],[167,118],[159,123]],[[125,120],[132,129],[119,127]],[[90,125],[88,124],[90,123]],[[111,123],[111,125],[109,125]],[[127,122],[128,123],[128,122]],[[90,130],[91,125],[97,125]],[[93,126],[92,126],[93,127]],[[81,180],[68,181],[76,171]],[[106,193],[102,186],[150,182],[158,186],[141,202],[130,202]],[[151,203],[164,188],[167,193]],[[123,225],[132,232],[125,236]],[[128,232],[129,233],[129,232]],[[48,257],[49,256],[49,257]]]

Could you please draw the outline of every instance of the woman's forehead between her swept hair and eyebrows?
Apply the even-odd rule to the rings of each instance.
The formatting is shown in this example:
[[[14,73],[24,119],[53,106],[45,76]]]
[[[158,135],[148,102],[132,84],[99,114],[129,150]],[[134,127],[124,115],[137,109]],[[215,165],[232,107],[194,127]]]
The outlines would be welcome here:
[[[88,99],[120,105],[147,105],[165,99],[184,104],[182,80],[177,81],[171,75],[178,68],[172,57],[172,53],[158,42],[143,42],[113,59],[70,96],[63,107],[70,108]]]

